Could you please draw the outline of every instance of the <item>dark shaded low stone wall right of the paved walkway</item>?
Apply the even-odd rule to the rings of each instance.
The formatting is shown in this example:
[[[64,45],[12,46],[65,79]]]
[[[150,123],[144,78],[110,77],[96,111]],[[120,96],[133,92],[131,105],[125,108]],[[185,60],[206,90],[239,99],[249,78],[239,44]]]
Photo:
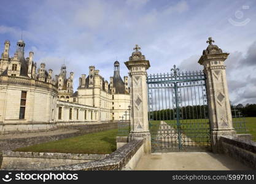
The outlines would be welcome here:
[[[256,142],[232,136],[222,136],[220,141],[226,155],[256,169]]]

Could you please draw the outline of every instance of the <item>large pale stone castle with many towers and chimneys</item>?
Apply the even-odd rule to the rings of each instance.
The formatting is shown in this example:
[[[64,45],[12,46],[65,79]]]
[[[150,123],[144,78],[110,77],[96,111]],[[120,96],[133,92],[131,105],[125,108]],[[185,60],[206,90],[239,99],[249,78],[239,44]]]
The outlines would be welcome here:
[[[119,121],[128,115],[130,88],[128,77],[120,77],[120,63],[114,63],[110,82],[95,66],[79,78],[73,90],[74,72],[67,77],[63,64],[59,75],[37,69],[33,52],[25,58],[25,42],[18,40],[13,57],[10,42],[4,42],[0,59],[0,132],[38,131],[60,126]]]

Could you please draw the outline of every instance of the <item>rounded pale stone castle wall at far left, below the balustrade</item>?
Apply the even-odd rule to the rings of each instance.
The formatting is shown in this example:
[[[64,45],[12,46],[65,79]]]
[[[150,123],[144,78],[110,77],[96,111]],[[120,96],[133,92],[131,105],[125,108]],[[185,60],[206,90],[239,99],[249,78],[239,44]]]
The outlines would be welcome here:
[[[26,91],[25,117],[20,118],[21,91]],[[0,132],[54,128],[56,89],[50,83],[0,77]]]

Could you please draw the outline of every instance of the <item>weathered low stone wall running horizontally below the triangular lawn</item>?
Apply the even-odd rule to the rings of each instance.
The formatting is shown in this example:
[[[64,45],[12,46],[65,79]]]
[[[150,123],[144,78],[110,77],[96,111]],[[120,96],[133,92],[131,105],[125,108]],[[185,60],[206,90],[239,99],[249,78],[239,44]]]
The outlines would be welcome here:
[[[71,153],[33,153],[4,151],[1,169],[45,169],[47,167],[86,163],[106,158],[107,155]]]

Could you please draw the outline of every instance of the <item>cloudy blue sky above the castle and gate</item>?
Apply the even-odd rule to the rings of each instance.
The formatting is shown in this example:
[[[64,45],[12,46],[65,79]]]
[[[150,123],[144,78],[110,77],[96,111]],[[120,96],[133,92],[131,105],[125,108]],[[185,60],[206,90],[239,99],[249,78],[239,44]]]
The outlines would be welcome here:
[[[74,90],[88,67],[106,80],[135,44],[150,61],[148,74],[203,69],[198,59],[212,37],[223,52],[231,104],[256,103],[256,1],[168,0],[1,0],[0,52],[10,40],[10,56],[17,40],[25,40],[25,57],[34,52],[39,66],[53,74],[64,63],[74,72]]]

